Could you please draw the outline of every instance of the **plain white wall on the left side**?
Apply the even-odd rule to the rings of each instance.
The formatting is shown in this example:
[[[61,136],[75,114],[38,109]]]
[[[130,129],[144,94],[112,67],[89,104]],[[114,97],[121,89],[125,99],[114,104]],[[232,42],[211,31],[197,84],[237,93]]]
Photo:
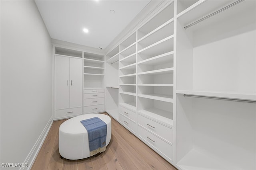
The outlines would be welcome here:
[[[52,117],[51,39],[34,1],[0,3],[1,163],[27,163]]]

